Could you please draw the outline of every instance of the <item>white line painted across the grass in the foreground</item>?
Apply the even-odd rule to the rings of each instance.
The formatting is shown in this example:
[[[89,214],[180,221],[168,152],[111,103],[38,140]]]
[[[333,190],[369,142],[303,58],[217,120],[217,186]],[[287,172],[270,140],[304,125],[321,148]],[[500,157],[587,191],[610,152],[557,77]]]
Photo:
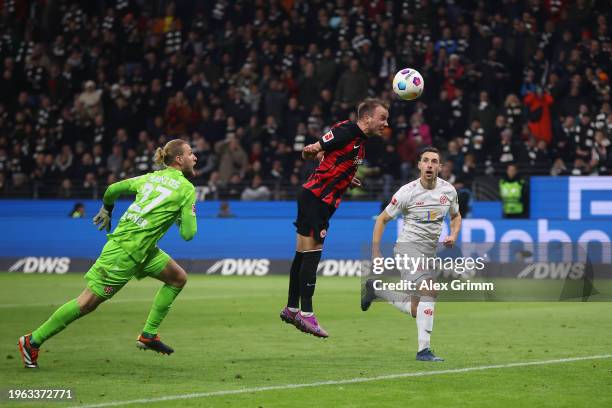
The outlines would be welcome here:
[[[519,362],[519,363],[496,364],[496,365],[466,367],[466,368],[454,368],[454,369],[448,369],[448,370],[416,371],[412,373],[388,374],[388,375],[379,375],[376,377],[349,378],[345,380],[318,381],[318,382],[304,383],[304,384],[285,384],[285,385],[272,385],[268,387],[241,388],[237,390],[196,392],[193,394],[179,394],[179,395],[169,395],[166,397],[146,398],[146,399],[137,399],[137,400],[129,400],[129,401],[104,402],[101,404],[93,404],[93,405],[77,405],[75,407],[80,407],[80,408],[117,407],[121,405],[129,405],[129,404],[149,404],[152,402],[176,401],[176,400],[192,399],[192,398],[207,398],[207,397],[217,397],[217,396],[223,396],[223,395],[248,394],[248,393],[264,392],[264,391],[282,391],[282,390],[291,390],[291,389],[296,389],[296,388],[321,387],[325,385],[357,384],[357,383],[372,382],[372,381],[395,380],[398,378],[407,378],[407,377],[426,377],[426,376],[441,375],[441,374],[467,373],[470,371],[493,370],[497,368],[528,367],[528,366],[535,366],[535,365],[571,363],[574,361],[600,360],[600,359],[606,359],[606,358],[611,358],[611,357],[612,357],[612,354],[603,354],[603,355],[598,355],[598,356],[569,357],[569,358],[560,358],[557,360],[543,360],[543,361],[525,361],[525,362]]]

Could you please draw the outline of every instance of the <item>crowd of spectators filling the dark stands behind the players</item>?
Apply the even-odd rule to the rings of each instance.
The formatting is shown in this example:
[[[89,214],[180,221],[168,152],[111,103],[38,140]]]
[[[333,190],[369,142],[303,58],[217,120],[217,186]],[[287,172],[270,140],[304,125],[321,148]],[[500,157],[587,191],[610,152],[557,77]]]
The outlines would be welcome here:
[[[608,1],[27,1],[0,22],[0,191],[99,197],[189,140],[194,184],[221,199],[292,198],[302,147],[358,101],[390,102],[354,198],[385,199],[419,149],[469,191],[524,174],[610,174]],[[425,92],[395,99],[418,69]]]

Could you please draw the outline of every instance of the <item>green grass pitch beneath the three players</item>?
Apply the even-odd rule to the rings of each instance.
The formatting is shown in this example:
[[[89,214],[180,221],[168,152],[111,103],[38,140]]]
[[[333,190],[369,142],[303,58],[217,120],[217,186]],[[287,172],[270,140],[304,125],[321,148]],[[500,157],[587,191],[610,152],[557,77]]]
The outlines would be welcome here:
[[[11,405],[9,388],[72,388],[72,403],[12,405],[152,399],[147,406],[612,406],[610,303],[440,303],[432,345],[447,361],[432,364],[414,360],[412,318],[383,303],[361,312],[359,284],[356,278],[318,280],[315,310],[331,336],[321,340],[278,318],[285,277],[192,276],[160,331],[176,352],[161,356],[135,347],[159,283],[131,282],[49,340],[39,370],[25,370],[18,336],[85,282],[81,275],[2,273],[0,405]],[[608,357],[554,362],[602,355]],[[527,362],[536,364],[508,366]],[[492,365],[499,367],[474,369]],[[402,373],[411,376],[373,379]],[[333,383],[285,387],[323,381]],[[251,391],[229,393],[243,389]],[[196,395],[159,400],[187,394]]]

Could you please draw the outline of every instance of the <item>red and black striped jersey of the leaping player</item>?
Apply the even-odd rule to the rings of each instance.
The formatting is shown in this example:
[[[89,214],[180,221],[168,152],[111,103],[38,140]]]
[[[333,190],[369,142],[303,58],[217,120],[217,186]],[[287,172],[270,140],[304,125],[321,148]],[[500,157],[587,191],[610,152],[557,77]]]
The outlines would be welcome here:
[[[304,188],[321,201],[338,207],[365,156],[366,135],[348,120],[332,126],[319,143],[325,154]]]

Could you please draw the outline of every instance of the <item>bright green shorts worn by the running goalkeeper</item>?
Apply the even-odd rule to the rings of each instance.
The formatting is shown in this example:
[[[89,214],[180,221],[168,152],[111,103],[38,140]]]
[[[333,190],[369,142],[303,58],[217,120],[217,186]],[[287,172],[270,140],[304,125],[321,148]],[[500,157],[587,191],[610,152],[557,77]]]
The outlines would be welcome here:
[[[109,240],[85,274],[87,287],[97,296],[110,299],[132,278],[157,278],[169,260],[167,253],[153,247],[142,262],[136,262],[119,244]]]

